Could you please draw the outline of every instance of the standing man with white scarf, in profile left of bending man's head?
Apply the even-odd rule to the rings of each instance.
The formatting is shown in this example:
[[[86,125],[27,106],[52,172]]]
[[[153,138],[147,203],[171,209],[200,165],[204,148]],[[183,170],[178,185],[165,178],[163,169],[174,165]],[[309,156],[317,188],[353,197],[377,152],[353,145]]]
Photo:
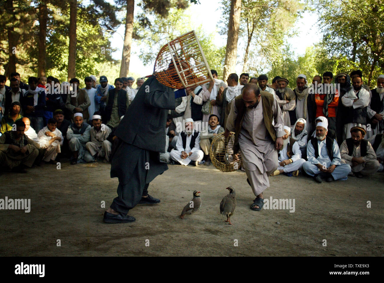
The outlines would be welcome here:
[[[231,102],[235,97],[241,94],[243,85],[238,85],[238,75],[232,73],[227,79],[228,87],[226,87],[222,94],[217,94],[216,103],[221,108],[219,124],[225,129],[227,124],[228,114],[231,111]]]

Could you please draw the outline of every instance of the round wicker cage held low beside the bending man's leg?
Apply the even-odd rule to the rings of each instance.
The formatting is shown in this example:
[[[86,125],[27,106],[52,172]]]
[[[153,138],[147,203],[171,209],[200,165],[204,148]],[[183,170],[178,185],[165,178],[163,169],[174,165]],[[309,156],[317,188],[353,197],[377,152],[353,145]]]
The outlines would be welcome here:
[[[233,172],[242,166],[240,151],[234,155],[233,145],[235,143],[235,133],[230,132],[226,138],[223,133],[214,137],[209,150],[209,157],[214,166],[223,172]]]

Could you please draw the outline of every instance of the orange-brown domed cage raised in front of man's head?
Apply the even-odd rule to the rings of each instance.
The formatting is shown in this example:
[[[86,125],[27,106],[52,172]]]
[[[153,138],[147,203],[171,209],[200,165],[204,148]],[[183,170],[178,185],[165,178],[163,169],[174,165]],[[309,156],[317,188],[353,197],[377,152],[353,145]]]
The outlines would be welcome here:
[[[153,75],[162,84],[184,89],[213,80],[194,30],[164,45],[157,54]]]

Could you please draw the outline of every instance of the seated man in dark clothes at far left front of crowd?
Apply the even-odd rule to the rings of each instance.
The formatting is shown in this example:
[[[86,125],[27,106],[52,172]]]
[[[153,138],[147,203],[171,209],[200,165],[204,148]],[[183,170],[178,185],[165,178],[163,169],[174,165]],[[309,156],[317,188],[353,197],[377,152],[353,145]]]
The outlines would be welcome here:
[[[21,119],[15,124],[16,131],[7,131],[0,137],[0,166],[26,173],[25,167],[32,167],[39,146],[24,134],[25,124]]]

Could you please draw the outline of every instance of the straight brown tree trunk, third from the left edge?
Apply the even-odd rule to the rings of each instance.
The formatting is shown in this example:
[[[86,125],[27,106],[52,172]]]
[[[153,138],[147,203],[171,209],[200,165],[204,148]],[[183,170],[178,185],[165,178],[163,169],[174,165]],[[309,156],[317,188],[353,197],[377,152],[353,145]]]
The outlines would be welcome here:
[[[68,81],[76,76],[77,0],[70,0],[70,45],[68,48]]]

